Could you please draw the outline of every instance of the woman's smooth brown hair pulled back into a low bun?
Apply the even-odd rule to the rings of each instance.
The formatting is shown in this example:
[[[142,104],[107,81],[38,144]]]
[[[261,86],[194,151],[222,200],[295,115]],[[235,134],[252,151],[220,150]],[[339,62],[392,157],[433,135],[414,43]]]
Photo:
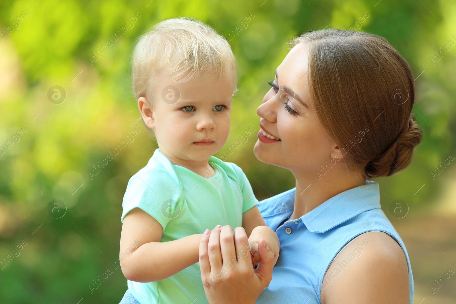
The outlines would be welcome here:
[[[383,37],[361,31],[323,29],[291,41],[301,43],[314,110],[348,168],[368,178],[404,170],[423,136],[405,59]]]

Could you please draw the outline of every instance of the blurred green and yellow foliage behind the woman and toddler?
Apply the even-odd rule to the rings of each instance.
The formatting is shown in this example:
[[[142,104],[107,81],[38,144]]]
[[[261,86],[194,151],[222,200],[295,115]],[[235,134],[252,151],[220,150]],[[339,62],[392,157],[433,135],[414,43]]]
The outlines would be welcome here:
[[[0,155],[0,260],[18,254],[0,269],[1,303],[120,301],[126,290],[115,265],[122,197],[156,148],[138,120],[130,57],[138,36],[174,16],[198,18],[230,40],[239,93],[227,146],[249,126],[259,129],[256,108],[290,38],[325,26],[386,37],[418,77],[414,112],[425,135],[407,170],[378,179],[383,209],[396,199],[411,212],[432,208],[440,185],[430,172],[456,153],[456,49],[435,56],[456,42],[455,1],[35,1],[0,3],[0,144],[13,141]],[[140,17],[132,22],[135,14]],[[244,28],[241,21],[252,14]],[[66,92],[58,104],[47,97],[56,85]],[[138,125],[134,140],[91,178],[93,166]],[[18,136],[21,128],[26,131]],[[255,158],[255,142],[253,134],[227,161],[242,165],[257,197],[294,187],[289,171]],[[99,276],[105,279],[98,287]]]

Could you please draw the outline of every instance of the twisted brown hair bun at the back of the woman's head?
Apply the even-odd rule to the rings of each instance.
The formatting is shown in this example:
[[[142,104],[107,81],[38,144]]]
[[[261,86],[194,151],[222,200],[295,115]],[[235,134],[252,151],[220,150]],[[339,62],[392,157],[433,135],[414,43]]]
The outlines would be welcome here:
[[[366,175],[391,176],[404,170],[412,161],[415,146],[420,144],[422,137],[423,131],[410,114],[408,129],[404,129],[382,154],[367,163]]]

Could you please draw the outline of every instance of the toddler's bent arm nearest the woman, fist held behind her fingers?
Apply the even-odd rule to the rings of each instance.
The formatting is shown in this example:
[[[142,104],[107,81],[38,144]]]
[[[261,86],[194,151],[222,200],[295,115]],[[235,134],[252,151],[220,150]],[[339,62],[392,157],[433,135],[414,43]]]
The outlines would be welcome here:
[[[249,243],[254,241],[255,244],[250,247],[252,253],[253,263],[259,262],[258,255],[258,242],[261,238],[264,238],[269,249],[274,253],[274,264],[279,258],[280,241],[274,230],[266,226],[263,216],[258,209],[258,206],[254,206],[249,210],[245,211],[242,215],[242,227],[245,233],[249,236]]]

